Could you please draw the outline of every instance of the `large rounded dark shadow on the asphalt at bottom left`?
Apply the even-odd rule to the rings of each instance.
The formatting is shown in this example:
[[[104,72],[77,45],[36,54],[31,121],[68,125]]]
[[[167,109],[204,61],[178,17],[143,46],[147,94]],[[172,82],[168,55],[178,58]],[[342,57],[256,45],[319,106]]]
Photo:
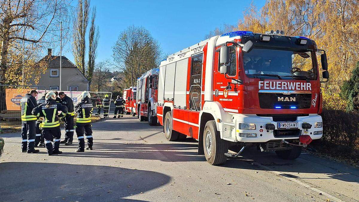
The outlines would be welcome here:
[[[0,170],[1,201],[137,201],[123,197],[170,180],[153,171],[111,166],[4,162]]]

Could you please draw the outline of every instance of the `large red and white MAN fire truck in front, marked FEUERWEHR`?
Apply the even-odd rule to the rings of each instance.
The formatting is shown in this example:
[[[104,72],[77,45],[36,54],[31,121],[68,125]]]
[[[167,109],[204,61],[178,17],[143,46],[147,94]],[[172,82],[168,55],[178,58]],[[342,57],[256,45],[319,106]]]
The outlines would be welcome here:
[[[322,137],[320,86],[328,78],[325,51],[309,38],[230,32],[160,63],[157,117],[167,140],[197,139],[212,165],[253,144],[295,159]]]

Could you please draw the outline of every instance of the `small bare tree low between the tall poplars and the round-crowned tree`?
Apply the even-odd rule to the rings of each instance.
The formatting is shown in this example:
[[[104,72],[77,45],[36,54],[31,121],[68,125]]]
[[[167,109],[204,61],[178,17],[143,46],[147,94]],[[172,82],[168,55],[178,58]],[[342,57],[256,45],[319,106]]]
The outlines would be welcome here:
[[[109,68],[108,60],[101,61],[95,65],[95,70],[92,78],[93,90],[102,91],[103,87],[109,82],[109,77],[112,75]]]

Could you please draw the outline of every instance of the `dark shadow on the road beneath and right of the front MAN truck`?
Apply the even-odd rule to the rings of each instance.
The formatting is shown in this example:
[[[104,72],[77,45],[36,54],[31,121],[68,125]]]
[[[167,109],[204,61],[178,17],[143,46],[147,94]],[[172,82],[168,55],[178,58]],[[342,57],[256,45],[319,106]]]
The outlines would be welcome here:
[[[288,175],[297,179],[338,179],[346,182],[359,183],[359,170],[355,167],[340,164],[320,157],[302,153],[298,159],[284,160],[275,152],[261,152],[256,147],[247,147],[238,158],[228,158],[223,167],[242,168],[243,164],[257,162],[265,167],[254,166],[253,169],[293,173]],[[295,174],[325,174],[323,178],[303,178]],[[321,175],[323,176],[323,175]]]

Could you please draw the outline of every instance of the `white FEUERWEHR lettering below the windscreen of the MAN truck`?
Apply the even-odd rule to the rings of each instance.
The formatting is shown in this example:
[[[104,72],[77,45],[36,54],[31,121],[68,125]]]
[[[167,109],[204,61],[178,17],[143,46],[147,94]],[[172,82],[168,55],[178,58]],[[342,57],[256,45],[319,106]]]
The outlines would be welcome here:
[[[259,81],[259,89],[311,91],[312,84],[304,82]]]

